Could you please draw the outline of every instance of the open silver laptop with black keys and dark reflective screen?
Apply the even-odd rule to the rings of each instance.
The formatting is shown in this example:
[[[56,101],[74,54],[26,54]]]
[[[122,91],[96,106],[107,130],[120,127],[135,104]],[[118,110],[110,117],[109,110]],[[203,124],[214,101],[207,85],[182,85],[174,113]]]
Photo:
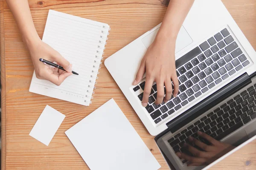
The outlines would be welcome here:
[[[132,82],[159,28],[108,57],[105,65],[148,132],[157,135],[157,144],[166,158],[176,169],[186,169],[186,160],[179,159],[175,152],[182,151],[177,146],[198,130],[230,144],[241,143],[246,134],[254,136],[256,52],[221,0],[195,0],[180,29],[175,49],[178,96],[155,105],[154,84],[148,106],[143,108],[145,77],[137,86]]]

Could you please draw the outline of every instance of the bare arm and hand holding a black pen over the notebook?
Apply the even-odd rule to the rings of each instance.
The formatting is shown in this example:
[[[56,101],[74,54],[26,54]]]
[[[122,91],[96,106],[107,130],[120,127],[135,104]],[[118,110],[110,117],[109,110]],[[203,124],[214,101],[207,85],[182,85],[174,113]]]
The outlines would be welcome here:
[[[36,77],[47,79],[56,85],[60,85],[64,79],[72,75],[70,73],[72,71],[72,65],[61,54],[41,41],[32,20],[28,0],[6,0],[6,2],[15,18],[23,42],[29,49],[29,54],[35,67]],[[68,72],[50,68],[41,63],[39,58],[58,62]]]

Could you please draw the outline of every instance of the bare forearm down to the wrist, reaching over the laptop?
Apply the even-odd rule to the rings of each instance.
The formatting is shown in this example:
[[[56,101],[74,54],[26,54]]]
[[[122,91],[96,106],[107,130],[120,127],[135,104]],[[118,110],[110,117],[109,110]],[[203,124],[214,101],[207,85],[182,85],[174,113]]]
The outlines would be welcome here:
[[[180,28],[192,7],[194,0],[170,0],[157,38],[176,40]]]

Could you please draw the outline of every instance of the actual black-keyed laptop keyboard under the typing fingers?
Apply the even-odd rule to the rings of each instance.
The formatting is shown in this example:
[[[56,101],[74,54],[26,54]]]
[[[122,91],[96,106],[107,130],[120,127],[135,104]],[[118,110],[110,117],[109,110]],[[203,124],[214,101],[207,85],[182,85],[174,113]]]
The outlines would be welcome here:
[[[156,105],[157,85],[153,85],[146,110],[157,124],[194,101],[211,88],[232,77],[233,74],[249,65],[227,28],[218,32],[198,47],[176,60],[179,93],[167,103]],[[133,90],[144,90],[145,81]],[[166,89],[165,89],[166,92]],[[140,101],[143,93],[138,95]]]

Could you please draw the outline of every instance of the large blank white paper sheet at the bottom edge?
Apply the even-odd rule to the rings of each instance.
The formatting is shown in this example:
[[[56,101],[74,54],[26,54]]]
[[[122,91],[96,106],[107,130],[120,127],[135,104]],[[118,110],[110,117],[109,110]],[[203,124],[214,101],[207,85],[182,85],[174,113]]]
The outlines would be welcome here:
[[[160,168],[160,164],[113,99],[65,133],[90,170]]]

